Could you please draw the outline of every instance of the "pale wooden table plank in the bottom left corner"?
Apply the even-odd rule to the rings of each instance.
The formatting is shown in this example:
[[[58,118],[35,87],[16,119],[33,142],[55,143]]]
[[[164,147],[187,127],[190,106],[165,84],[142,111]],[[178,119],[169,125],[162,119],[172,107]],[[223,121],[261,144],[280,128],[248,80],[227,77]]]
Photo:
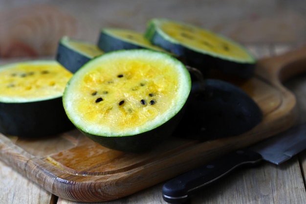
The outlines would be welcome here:
[[[51,193],[24,178],[0,161],[1,204],[52,204]]]

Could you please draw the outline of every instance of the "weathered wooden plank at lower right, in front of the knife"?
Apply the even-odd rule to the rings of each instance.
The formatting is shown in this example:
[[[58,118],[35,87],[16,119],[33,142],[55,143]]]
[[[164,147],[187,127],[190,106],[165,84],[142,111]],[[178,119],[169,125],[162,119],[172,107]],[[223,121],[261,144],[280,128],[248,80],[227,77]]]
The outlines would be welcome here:
[[[270,163],[241,169],[212,185],[192,204],[304,204],[305,187],[297,159],[280,166]]]

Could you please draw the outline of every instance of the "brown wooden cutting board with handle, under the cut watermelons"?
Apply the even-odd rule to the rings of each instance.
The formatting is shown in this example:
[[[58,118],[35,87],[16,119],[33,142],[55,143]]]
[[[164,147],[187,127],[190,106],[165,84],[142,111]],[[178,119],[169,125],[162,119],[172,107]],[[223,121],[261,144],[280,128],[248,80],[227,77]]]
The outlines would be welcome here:
[[[172,137],[151,152],[133,154],[105,148],[77,130],[39,140],[0,134],[0,159],[61,198],[118,199],[290,128],[298,116],[296,99],[281,82],[305,70],[306,46],[261,59],[251,79],[228,78],[252,96],[264,115],[239,136],[204,142]]]

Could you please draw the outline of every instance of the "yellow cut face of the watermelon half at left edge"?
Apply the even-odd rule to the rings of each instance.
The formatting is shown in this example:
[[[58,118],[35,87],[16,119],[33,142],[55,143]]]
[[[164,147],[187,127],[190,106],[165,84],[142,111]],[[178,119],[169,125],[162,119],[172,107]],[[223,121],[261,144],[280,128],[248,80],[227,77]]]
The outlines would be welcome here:
[[[0,68],[0,101],[30,102],[63,95],[72,73],[57,62],[22,62]]]

